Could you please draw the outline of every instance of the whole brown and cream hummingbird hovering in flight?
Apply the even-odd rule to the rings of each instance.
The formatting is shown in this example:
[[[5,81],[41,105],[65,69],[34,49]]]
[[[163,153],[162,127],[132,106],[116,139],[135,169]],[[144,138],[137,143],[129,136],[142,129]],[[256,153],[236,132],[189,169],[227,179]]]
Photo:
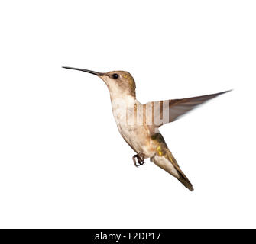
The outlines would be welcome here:
[[[88,72],[97,75],[105,82],[109,89],[112,112],[119,133],[125,142],[131,146],[131,149],[136,152],[132,157],[136,167],[144,165],[144,159],[150,159],[155,165],[173,175],[186,188],[193,191],[193,185],[170,152],[159,127],[179,119],[183,114],[209,99],[231,90],[191,98],[151,101],[147,104],[141,104],[136,99],[136,84],[129,72],[95,72],[67,66],[63,66],[63,68]]]

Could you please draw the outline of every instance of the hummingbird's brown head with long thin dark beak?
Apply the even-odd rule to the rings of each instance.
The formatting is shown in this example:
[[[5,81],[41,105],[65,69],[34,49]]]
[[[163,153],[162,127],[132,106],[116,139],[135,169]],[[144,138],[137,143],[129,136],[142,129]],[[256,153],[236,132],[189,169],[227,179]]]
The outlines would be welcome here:
[[[95,72],[88,69],[77,69],[72,67],[63,67],[65,69],[75,69],[83,72],[88,72],[92,75],[99,76],[100,79],[105,82],[105,84],[109,88],[109,92],[111,96],[124,96],[131,95],[135,97],[135,89],[136,85],[133,77],[129,72],[126,71],[111,71],[106,73]]]

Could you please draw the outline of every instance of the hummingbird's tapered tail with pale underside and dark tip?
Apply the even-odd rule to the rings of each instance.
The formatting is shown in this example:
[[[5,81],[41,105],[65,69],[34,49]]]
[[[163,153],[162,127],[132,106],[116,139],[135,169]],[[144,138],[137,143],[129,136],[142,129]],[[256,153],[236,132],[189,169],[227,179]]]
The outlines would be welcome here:
[[[167,150],[162,155],[156,154],[154,157],[151,158],[151,161],[154,162],[161,169],[167,171],[170,175],[176,177],[190,191],[193,191],[193,185],[180,169],[180,166],[177,164],[177,161],[173,157],[170,150]]]

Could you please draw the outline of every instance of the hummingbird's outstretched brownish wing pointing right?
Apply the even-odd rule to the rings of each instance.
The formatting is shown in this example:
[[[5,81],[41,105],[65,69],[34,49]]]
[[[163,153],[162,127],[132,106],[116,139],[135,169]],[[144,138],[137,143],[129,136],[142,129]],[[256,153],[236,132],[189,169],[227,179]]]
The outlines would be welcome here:
[[[183,116],[183,114],[193,110],[193,108],[205,103],[209,99],[215,98],[230,91],[232,90],[193,98],[148,102],[147,104],[144,104],[146,107],[145,110],[147,111],[147,125],[153,132],[155,128],[179,119],[181,116]],[[152,120],[148,119],[148,117],[151,117]]]

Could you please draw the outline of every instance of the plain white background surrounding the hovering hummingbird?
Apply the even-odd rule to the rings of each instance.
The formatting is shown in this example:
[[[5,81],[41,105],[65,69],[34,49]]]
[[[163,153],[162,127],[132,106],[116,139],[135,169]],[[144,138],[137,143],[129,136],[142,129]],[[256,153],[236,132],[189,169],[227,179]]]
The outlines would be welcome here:
[[[0,4],[0,227],[256,227],[254,1]],[[119,135],[99,72],[142,103],[233,88],[161,127],[195,191]]]

